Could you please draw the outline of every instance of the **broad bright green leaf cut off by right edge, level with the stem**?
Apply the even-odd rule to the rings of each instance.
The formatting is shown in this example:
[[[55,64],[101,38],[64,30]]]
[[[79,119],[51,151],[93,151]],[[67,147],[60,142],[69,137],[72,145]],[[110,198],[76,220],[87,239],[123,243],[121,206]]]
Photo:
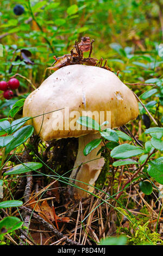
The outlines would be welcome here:
[[[149,161],[148,174],[163,185],[163,162]]]

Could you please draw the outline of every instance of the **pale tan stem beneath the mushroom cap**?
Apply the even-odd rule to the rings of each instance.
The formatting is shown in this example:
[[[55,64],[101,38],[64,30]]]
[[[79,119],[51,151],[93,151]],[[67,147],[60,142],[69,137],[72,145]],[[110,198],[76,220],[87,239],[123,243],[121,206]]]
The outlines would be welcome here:
[[[83,188],[84,190],[87,190],[89,192],[93,192],[92,186],[95,184],[95,181],[97,180],[101,172],[101,169],[104,166],[104,159],[99,158],[101,157],[101,153],[98,154],[97,156],[97,153],[99,149],[101,149],[102,144],[99,144],[98,147],[96,149],[93,149],[91,153],[88,154],[87,156],[84,156],[83,150],[89,142],[93,141],[93,139],[98,139],[98,138],[101,138],[101,135],[99,133],[89,134],[89,135],[79,137],[78,155],[77,155],[76,162],[74,163],[74,167],[77,167],[77,168],[73,169],[70,176],[70,179],[75,180],[75,181],[70,180],[71,182],[73,182],[78,187]],[[78,167],[80,166],[81,163],[83,164],[79,169]],[[82,182],[85,182],[86,184]],[[75,197],[85,198],[89,196],[89,193],[87,193],[86,191],[80,190],[80,188],[74,187],[73,192]]]

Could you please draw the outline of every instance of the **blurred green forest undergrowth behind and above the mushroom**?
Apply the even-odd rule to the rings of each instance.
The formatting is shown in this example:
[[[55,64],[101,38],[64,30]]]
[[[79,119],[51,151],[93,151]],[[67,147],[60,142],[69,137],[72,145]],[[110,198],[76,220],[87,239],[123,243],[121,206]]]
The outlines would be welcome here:
[[[23,14],[15,15],[16,4],[24,7]],[[49,75],[45,70],[54,62],[53,56],[69,53],[75,40],[85,35],[95,40],[92,57],[108,59],[115,73],[120,70],[123,82],[159,79],[162,83],[163,59],[158,53],[163,34],[162,7],[162,0],[3,0],[0,80],[8,81],[19,73],[38,87]],[[31,52],[29,59],[34,64],[16,58],[21,49]],[[20,83],[18,97],[26,97],[33,89],[23,78]],[[135,90],[144,92],[140,87]],[[161,94],[159,97],[162,101]]]

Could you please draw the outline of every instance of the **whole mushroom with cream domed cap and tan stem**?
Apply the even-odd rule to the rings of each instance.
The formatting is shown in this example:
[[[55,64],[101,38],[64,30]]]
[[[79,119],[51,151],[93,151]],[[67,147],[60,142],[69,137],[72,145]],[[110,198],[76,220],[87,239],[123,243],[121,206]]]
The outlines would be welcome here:
[[[24,102],[23,116],[37,116],[30,122],[44,141],[78,137],[78,154],[70,181],[74,179],[79,187],[73,190],[79,197],[87,197],[86,191],[93,191],[104,159],[101,154],[97,156],[101,144],[84,156],[86,144],[101,136],[98,131],[79,125],[77,119],[89,113],[98,116],[106,112],[110,113],[106,127],[114,129],[135,119],[139,108],[133,92],[113,72],[97,66],[77,64],[60,68]]]

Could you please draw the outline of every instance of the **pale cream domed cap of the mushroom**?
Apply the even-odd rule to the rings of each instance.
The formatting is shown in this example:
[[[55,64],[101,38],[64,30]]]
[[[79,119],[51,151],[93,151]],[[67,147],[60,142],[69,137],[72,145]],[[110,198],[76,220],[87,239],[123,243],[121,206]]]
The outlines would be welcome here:
[[[139,113],[133,92],[113,72],[96,66],[68,65],[55,71],[27,97],[23,116],[40,115],[32,119],[32,124],[36,133],[39,133],[45,141],[95,133],[95,131],[71,130],[71,128],[54,130],[57,112],[54,112],[55,114],[48,112],[66,107],[69,108],[69,113],[78,111],[80,116],[82,111],[110,111],[111,128],[127,124]],[[61,112],[62,115],[58,118],[63,120],[63,127],[67,127],[66,122],[71,118],[65,120],[67,118],[65,109]],[[43,117],[41,116],[43,113],[48,114]]]

